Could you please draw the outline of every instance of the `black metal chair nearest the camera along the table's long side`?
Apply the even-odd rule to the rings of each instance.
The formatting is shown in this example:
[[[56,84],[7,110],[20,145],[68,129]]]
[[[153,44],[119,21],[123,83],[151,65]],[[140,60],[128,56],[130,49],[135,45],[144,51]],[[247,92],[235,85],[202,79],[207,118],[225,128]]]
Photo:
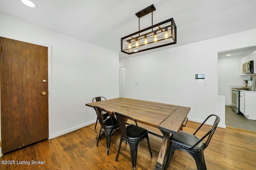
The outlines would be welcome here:
[[[143,139],[147,139],[148,141],[148,149],[150,152],[150,156],[152,158],[152,152],[150,149],[149,139],[148,139],[148,130],[142,127],[139,127],[136,120],[130,116],[117,113],[117,112],[113,112],[113,114],[116,115],[120,133],[121,133],[120,144],[119,144],[118,152],[116,155],[116,161],[118,160],[118,156],[120,154],[122,142],[125,141],[126,143],[128,143],[130,147],[132,167],[135,170],[136,162],[137,162],[138,147],[140,145],[140,142]],[[133,120],[135,122],[135,125],[129,124],[126,126],[125,118]]]

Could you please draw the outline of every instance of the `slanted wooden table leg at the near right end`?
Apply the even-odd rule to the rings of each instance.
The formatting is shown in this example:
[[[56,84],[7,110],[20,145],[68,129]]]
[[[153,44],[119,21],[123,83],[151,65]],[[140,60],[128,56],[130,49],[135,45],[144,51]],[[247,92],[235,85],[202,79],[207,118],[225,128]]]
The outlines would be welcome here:
[[[170,133],[167,133],[165,131],[162,131],[162,133],[163,133],[163,140],[162,140],[162,145],[158,154],[155,170],[164,170],[164,167],[166,164],[167,151],[170,144]]]

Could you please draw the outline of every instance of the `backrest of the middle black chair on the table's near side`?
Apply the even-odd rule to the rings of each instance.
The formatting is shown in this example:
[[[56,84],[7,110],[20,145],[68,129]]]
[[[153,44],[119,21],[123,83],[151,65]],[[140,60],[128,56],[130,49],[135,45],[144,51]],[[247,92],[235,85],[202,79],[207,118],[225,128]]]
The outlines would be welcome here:
[[[119,129],[120,129],[120,133],[122,135],[122,137],[124,137],[126,140],[128,140],[128,137],[127,137],[127,133],[126,133],[126,123],[125,123],[125,118],[128,118],[128,119],[131,119],[135,122],[136,124],[136,127],[138,129],[138,136],[140,137],[141,139],[141,136],[140,136],[140,133],[139,133],[139,128],[138,128],[138,124],[137,124],[137,121],[133,118],[133,117],[130,117],[128,115],[124,115],[122,113],[118,113],[118,112],[114,112],[112,113],[113,115],[116,115],[116,119],[117,119],[117,122],[118,122],[118,126],[119,126]],[[135,133],[135,132],[134,132]]]

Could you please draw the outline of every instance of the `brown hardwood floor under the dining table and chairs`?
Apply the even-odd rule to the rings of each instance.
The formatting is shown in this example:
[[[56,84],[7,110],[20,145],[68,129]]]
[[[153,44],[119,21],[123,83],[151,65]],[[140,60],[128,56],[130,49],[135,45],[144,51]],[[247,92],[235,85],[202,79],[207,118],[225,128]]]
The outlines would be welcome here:
[[[129,146],[122,144],[122,149],[116,162],[120,133],[112,136],[110,152],[107,156],[106,138],[100,140],[96,147],[96,130],[89,125],[71,133],[45,140],[28,147],[4,154],[1,159],[1,170],[131,170]],[[200,123],[188,121],[184,131],[194,133]],[[204,131],[209,125],[203,127]],[[201,133],[202,135],[202,133]],[[153,158],[150,158],[146,140],[138,149],[136,170],[153,170],[161,146],[159,137],[149,134]],[[204,157],[208,170],[255,170],[256,167],[256,133],[238,129],[217,128]],[[13,161],[12,161],[13,160]],[[9,164],[3,164],[4,163]],[[42,161],[32,164],[33,161]],[[15,164],[10,164],[15,163]],[[172,156],[169,170],[196,170],[196,163],[186,152],[176,150]]]

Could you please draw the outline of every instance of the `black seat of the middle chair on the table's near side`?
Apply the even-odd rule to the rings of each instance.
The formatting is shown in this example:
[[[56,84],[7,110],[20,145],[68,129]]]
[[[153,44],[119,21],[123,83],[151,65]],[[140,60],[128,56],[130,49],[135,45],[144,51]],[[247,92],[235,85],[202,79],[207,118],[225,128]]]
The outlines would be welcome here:
[[[138,129],[139,129],[139,133],[138,134]],[[129,140],[134,141],[134,140],[138,140],[140,139],[140,136],[143,137],[144,135],[146,135],[148,133],[147,129],[144,129],[142,127],[134,125],[134,124],[130,124],[128,126],[126,126],[126,133],[127,133],[127,137]]]

